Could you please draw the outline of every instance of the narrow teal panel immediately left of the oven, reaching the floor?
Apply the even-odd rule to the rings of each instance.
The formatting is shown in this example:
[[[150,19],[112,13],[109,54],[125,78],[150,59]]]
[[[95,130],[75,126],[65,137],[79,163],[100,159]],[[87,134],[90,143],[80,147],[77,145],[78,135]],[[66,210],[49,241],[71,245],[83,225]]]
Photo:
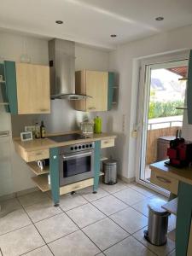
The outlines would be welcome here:
[[[49,149],[49,174],[52,199],[55,207],[57,207],[60,201],[59,148]]]

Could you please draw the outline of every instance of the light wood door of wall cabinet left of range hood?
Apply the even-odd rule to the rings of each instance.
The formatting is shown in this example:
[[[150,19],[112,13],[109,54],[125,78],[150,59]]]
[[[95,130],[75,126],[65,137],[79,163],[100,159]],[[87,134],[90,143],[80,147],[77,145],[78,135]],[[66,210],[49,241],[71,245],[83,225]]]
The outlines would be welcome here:
[[[18,113],[50,113],[49,67],[16,63]]]

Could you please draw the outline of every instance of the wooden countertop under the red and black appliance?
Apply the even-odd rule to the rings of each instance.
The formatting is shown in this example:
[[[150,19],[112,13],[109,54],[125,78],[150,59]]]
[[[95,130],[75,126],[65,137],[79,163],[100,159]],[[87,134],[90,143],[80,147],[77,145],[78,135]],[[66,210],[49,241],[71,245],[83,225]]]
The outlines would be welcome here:
[[[192,185],[192,167],[176,168],[167,166],[165,160],[151,164],[149,167],[152,171],[159,170],[166,173],[169,177],[174,177],[183,183]]]

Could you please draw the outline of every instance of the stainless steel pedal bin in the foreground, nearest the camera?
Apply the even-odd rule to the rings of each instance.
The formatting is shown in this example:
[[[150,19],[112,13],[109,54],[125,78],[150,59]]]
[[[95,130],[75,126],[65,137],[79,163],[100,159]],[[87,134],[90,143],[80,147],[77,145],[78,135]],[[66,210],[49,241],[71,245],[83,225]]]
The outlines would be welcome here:
[[[144,231],[144,237],[155,246],[166,244],[169,215],[161,207],[148,205],[148,230]]]

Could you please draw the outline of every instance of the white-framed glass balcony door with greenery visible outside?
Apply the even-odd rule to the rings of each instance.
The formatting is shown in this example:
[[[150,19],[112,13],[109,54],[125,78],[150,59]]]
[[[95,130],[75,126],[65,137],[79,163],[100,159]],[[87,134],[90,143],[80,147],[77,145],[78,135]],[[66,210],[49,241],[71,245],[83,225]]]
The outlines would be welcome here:
[[[170,140],[181,135],[188,60],[144,66],[140,168],[137,182],[150,183],[149,165],[166,160]],[[156,188],[160,189],[160,188]]]

